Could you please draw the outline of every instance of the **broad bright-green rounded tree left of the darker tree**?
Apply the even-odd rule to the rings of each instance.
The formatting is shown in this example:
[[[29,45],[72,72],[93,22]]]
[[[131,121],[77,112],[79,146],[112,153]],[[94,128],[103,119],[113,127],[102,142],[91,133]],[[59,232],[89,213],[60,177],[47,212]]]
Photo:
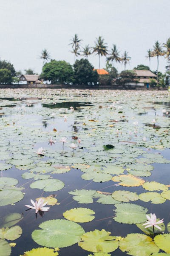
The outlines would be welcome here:
[[[51,60],[42,67],[41,78],[51,81],[52,84],[67,84],[74,81],[74,71],[66,61]]]

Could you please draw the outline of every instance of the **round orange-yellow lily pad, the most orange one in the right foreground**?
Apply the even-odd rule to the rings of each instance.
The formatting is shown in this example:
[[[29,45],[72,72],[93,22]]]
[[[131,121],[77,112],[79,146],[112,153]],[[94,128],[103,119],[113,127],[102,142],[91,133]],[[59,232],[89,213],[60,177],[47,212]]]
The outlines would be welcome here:
[[[114,176],[112,180],[119,182],[119,185],[121,186],[141,186],[144,183],[144,180],[130,174]]]

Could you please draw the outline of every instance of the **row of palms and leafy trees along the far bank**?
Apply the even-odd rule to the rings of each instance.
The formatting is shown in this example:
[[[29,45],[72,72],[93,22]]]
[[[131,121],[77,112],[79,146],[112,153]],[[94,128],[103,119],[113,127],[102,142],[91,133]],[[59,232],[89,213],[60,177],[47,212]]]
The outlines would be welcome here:
[[[78,37],[77,34],[71,38],[69,45],[71,45],[71,52],[74,54],[74,65],[72,66],[66,61],[51,59],[51,55],[47,49],[42,49],[39,58],[43,60],[42,73],[40,78],[48,83],[52,84],[112,84],[116,81],[116,84],[123,85],[126,82],[133,81],[133,70],[126,70],[127,64],[130,62],[131,57],[127,51],[123,54],[120,53],[116,44],[113,44],[111,49],[108,49],[107,43],[104,38],[99,36],[94,42],[94,46],[86,44],[82,46],[83,40]],[[100,60],[105,57],[106,66],[105,70],[108,71],[108,75],[98,75],[94,70],[93,65],[88,61],[90,55],[98,55],[99,57],[99,69]],[[77,57],[81,57],[77,60]],[[167,60],[166,72],[162,74],[159,72],[159,58],[164,57]],[[147,50],[149,66],[139,64],[134,67],[136,70],[150,70],[151,59],[157,58],[157,69],[152,71],[156,74],[156,81],[153,79],[151,85],[154,87],[167,87],[170,85],[170,38],[166,43],[160,44],[156,41],[153,45],[153,49]],[[118,71],[114,67],[115,63],[122,63],[124,70],[118,74]],[[25,74],[34,75],[34,70],[31,68],[25,70]],[[5,60],[0,60],[0,84],[18,83],[20,81],[21,71],[15,71],[14,66]]]

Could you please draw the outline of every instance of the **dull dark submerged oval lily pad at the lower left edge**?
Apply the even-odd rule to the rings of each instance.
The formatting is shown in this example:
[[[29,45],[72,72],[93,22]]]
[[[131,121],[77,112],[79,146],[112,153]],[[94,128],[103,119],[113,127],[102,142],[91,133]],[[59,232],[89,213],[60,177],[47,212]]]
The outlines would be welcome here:
[[[23,216],[20,213],[17,213],[17,212],[10,213],[1,219],[0,227],[14,226],[22,219],[23,219]]]

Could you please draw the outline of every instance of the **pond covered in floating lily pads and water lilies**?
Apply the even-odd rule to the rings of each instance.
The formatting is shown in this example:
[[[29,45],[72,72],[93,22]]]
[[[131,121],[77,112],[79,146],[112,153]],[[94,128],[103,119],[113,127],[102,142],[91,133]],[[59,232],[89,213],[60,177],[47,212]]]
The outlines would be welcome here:
[[[0,255],[170,255],[169,102],[0,89]],[[143,225],[150,213],[158,228]]]

